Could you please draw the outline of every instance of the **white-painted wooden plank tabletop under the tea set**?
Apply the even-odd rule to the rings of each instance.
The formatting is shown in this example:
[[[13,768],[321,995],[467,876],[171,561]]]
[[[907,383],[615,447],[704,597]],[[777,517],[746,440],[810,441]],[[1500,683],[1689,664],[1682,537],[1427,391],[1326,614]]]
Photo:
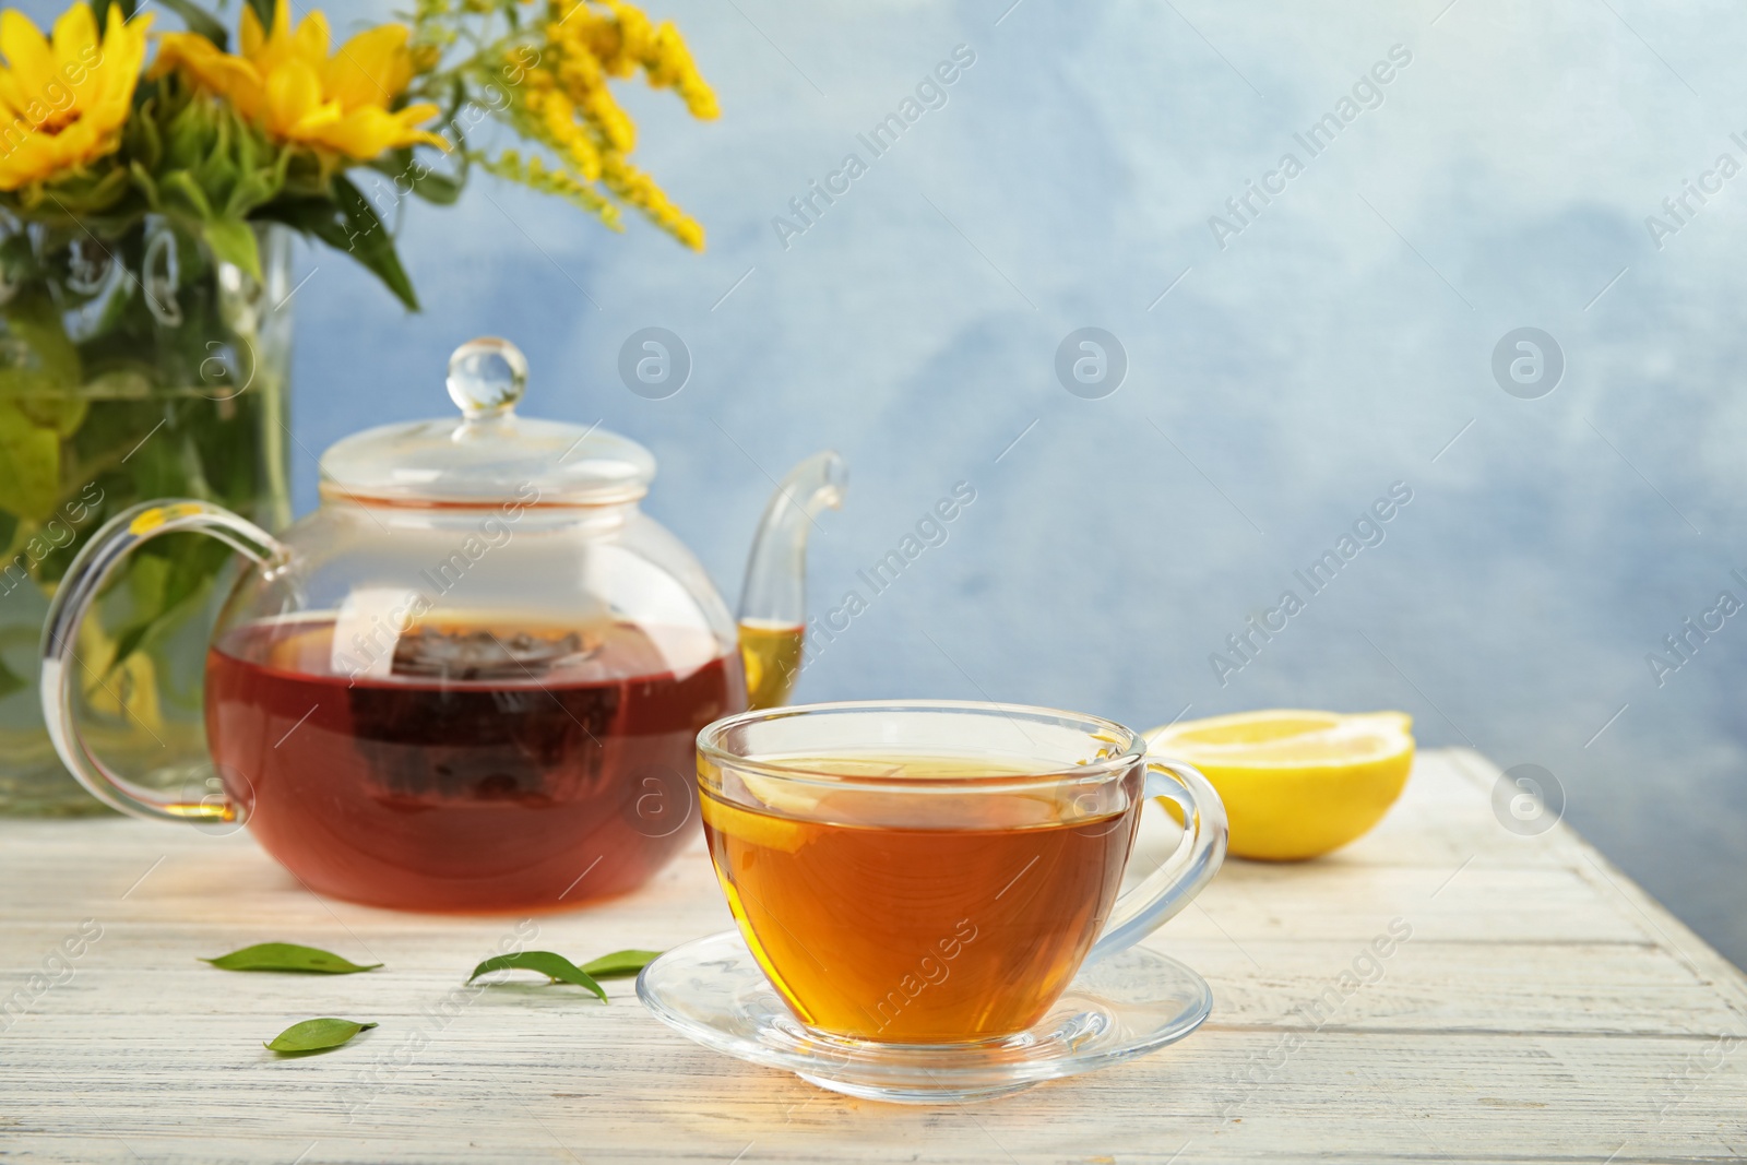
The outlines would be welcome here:
[[[535,983],[458,992],[517,919],[323,901],[246,833],[0,823],[0,1001],[28,1006],[0,1031],[0,1162],[1747,1158],[1747,980],[1569,830],[1506,831],[1495,779],[1473,753],[1429,753],[1347,851],[1228,863],[1151,940],[1214,989],[1181,1044],[942,1107],[697,1048],[629,982],[610,1006]],[[33,980],[84,919],[101,938],[70,976]],[[1396,919],[1412,938],[1364,961]],[[639,894],[531,926],[529,947],[582,961],[728,915],[699,845]],[[266,940],[388,968],[196,962]],[[313,1015],[381,1027],[320,1057],[262,1050]]]

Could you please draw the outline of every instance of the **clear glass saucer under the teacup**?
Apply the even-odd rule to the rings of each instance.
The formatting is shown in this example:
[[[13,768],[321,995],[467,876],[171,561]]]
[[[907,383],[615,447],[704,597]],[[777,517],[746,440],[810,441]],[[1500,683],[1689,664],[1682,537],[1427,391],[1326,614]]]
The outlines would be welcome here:
[[[1183,1039],[1212,1011],[1207,980],[1130,947],[1083,968],[1041,1024],[975,1046],[877,1044],[811,1032],[765,980],[739,931],[674,947],[638,976],[655,1018],[706,1048],[865,1100],[987,1100]]]

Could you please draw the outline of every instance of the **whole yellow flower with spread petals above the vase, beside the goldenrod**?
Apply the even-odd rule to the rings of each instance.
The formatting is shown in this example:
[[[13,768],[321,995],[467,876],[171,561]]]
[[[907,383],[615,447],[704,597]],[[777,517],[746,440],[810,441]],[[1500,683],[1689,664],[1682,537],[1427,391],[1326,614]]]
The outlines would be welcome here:
[[[274,5],[273,33],[243,9],[243,52],[222,52],[196,33],[166,33],[152,77],[180,70],[192,84],[231,101],[269,136],[369,161],[383,150],[447,143],[418,126],[437,115],[428,103],[388,107],[412,80],[407,28],[383,24],[328,56],[328,23],[311,12],[292,31],[287,0]]]

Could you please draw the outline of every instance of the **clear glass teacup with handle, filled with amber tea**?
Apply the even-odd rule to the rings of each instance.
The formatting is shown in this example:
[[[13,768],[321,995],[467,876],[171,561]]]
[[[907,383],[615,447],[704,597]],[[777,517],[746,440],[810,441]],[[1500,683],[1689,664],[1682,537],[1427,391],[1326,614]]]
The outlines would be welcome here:
[[[905,700],[728,716],[697,737],[716,877],[770,985],[814,1032],[1003,1039],[1088,961],[1179,912],[1225,858],[1188,765],[1109,720]],[[1141,805],[1176,852],[1120,894]]]

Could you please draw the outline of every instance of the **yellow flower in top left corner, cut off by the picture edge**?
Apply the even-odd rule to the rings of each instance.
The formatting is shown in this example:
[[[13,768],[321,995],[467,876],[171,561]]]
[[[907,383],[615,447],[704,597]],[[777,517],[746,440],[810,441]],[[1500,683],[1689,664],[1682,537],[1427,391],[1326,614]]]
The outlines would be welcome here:
[[[152,17],[98,21],[75,3],[54,23],[52,44],[23,12],[0,12],[0,190],[47,182],[121,145],[145,61]]]

